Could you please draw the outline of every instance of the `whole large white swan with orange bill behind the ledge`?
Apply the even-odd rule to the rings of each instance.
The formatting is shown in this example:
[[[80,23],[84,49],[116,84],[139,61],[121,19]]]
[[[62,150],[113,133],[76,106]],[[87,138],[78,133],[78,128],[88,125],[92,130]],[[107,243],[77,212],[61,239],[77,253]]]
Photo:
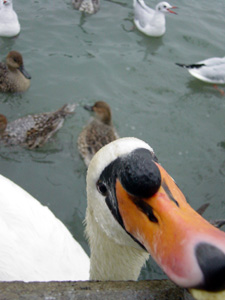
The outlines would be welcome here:
[[[90,259],[47,207],[0,181],[1,281],[137,280],[150,254],[177,285],[225,295],[225,233],[191,208],[146,142],[117,139],[89,164]]]

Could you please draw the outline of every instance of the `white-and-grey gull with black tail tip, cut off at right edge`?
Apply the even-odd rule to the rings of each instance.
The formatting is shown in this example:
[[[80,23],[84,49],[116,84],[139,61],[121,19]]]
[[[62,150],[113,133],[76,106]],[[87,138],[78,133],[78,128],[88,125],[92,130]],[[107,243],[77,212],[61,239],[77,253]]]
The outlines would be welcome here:
[[[190,65],[180,63],[176,65],[187,69],[192,76],[201,81],[214,85],[225,84],[225,57],[212,57]],[[220,89],[219,91],[224,94],[224,91]]]

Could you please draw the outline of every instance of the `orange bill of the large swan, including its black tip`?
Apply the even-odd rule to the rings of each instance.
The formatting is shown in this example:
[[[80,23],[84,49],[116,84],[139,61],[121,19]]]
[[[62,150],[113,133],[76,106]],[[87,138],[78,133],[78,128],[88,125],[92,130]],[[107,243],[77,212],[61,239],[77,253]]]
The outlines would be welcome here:
[[[156,165],[161,185],[150,198],[134,197],[116,181],[125,230],[179,286],[224,289],[225,233],[194,211],[170,175]]]

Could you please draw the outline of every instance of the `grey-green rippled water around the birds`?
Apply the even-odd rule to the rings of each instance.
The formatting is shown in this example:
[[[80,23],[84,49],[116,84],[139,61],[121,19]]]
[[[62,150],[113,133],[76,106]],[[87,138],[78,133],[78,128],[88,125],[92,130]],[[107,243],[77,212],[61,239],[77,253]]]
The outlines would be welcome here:
[[[1,149],[1,173],[48,205],[86,251],[86,168],[76,141],[89,119],[81,105],[96,100],[110,104],[121,137],[154,148],[194,208],[208,202],[207,219],[225,217],[225,97],[175,65],[224,56],[224,1],[170,2],[178,15],[167,16],[165,36],[150,38],[131,30],[131,0],[102,1],[92,16],[69,0],[14,0],[21,34],[0,38],[0,59],[18,50],[32,75],[24,94],[0,94],[9,120],[80,104],[42,149]],[[148,263],[141,278],[164,275]]]

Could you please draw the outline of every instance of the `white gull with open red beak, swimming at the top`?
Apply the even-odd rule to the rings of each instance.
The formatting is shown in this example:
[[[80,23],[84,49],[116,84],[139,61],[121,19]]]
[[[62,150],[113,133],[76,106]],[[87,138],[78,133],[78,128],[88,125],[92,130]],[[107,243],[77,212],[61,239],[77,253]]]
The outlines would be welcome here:
[[[150,8],[144,0],[134,0],[134,23],[138,30],[147,36],[161,37],[166,32],[166,13],[176,14],[168,2],[160,2],[155,9]]]

